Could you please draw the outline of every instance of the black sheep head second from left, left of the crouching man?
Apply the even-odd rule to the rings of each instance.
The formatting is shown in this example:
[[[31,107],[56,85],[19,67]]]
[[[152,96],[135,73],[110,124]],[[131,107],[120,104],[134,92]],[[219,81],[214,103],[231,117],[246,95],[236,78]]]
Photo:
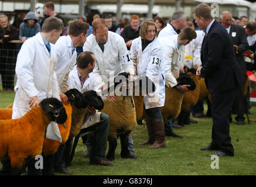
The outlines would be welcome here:
[[[77,89],[70,89],[65,93],[72,105],[76,106],[77,109],[87,108],[89,102],[84,95]]]

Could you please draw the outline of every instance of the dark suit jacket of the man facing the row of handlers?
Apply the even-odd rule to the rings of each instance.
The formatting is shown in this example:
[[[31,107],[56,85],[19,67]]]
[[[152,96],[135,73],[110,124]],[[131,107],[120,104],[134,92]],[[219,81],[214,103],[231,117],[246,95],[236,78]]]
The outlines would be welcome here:
[[[235,60],[233,42],[224,27],[214,20],[201,49],[202,69],[210,93],[224,92],[243,84],[242,71]]]

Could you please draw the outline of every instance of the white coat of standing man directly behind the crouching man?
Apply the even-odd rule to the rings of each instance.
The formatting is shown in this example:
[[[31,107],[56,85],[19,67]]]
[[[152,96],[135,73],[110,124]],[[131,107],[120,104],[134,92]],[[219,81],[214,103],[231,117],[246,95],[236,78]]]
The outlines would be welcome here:
[[[117,33],[108,31],[108,40],[104,45],[104,53],[98,46],[93,34],[87,37],[83,51],[91,51],[96,57],[93,74],[100,87],[107,86],[110,82],[114,84],[114,77],[121,72],[134,74],[134,68],[128,56],[124,39]]]

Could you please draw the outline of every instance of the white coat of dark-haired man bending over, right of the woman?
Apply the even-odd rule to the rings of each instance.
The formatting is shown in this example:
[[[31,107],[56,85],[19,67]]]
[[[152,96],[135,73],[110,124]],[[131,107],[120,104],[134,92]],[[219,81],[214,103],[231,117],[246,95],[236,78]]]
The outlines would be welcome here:
[[[163,49],[162,63],[165,67],[165,84],[173,87],[178,84],[180,58],[183,58],[183,47],[178,49],[178,35],[162,37],[159,39]]]

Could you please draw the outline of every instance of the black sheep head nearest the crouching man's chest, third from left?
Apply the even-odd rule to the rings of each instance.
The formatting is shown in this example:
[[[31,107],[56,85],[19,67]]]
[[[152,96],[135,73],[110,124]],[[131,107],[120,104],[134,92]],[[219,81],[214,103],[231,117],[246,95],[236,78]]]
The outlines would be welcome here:
[[[89,102],[89,106],[93,106],[97,110],[102,110],[104,108],[104,102],[97,92],[90,90],[83,93],[84,98]]]

